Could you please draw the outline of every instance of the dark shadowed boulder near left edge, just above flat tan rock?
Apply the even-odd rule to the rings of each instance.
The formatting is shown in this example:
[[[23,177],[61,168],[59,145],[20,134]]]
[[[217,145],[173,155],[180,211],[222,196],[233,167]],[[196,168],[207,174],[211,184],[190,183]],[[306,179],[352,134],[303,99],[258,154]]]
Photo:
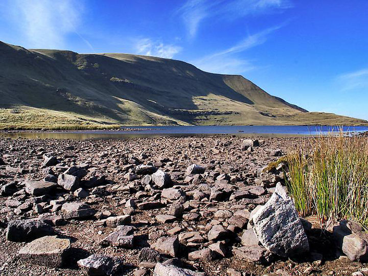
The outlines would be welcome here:
[[[6,232],[8,241],[24,242],[32,241],[43,236],[54,235],[54,229],[49,224],[38,220],[12,220],[9,222]]]

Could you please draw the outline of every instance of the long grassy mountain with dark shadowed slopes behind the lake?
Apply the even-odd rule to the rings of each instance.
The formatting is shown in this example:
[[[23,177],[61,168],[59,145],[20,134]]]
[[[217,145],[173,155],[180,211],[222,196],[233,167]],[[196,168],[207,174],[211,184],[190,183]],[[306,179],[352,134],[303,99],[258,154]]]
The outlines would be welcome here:
[[[367,124],[308,112],[238,75],[172,59],[0,42],[0,128]]]

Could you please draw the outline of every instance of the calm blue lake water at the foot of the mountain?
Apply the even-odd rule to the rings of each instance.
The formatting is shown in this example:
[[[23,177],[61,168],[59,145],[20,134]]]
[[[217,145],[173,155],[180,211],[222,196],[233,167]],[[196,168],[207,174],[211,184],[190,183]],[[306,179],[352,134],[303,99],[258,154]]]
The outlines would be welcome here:
[[[64,132],[2,132],[5,137],[33,139],[125,139],[150,136],[190,136],[212,134],[236,134],[242,136],[300,136],[338,132],[331,126],[156,126],[124,127],[122,130],[64,131]],[[368,127],[343,127],[344,132],[365,132]]]

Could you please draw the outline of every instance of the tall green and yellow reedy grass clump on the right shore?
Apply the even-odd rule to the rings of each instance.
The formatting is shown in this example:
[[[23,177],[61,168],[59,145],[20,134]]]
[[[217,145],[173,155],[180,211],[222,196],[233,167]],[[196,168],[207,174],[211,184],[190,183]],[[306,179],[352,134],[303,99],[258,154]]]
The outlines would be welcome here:
[[[368,139],[340,135],[310,141],[287,156],[288,190],[302,216],[320,223],[352,219],[368,225]]]

